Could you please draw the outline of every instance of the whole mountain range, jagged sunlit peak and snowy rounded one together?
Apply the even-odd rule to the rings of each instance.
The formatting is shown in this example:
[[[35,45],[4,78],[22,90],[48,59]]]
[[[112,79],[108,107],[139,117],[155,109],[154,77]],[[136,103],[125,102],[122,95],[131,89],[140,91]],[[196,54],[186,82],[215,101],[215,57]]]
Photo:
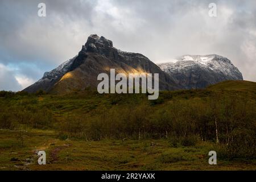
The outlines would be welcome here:
[[[67,93],[96,88],[100,73],[159,73],[160,90],[205,88],[225,80],[243,80],[241,72],[226,57],[218,55],[184,55],[175,63],[154,64],[140,53],[125,52],[113,47],[113,42],[90,35],[77,56],[43,77],[23,91],[35,93]]]

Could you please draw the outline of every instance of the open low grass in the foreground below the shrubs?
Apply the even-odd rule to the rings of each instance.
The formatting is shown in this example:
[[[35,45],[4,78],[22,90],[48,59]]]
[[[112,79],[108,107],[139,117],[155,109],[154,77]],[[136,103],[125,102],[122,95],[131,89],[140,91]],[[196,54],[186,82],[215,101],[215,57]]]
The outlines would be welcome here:
[[[170,146],[168,140],[60,140],[48,130],[28,130],[24,146],[18,131],[0,130],[1,170],[248,170],[256,160],[217,160],[208,164],[214,144],[199,142],[193,147]],[[154,146],[151,146],[154,142]],[[36,151],[44,150],[47,164],[37,163]],[[18,161],[11,161],[12,158]],[[246,163],[246,165],[245,165]]]

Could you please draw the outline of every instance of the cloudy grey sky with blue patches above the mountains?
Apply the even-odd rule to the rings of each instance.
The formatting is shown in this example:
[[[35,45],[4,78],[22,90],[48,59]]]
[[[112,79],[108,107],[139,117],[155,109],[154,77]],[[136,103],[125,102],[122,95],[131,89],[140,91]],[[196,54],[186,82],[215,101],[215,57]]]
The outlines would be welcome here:
[[[38,16],[39,3],[46,17]],[[1,0],[0,90],[33,84],[77,55],[90,34],[154,63],[215,53],[256,81],[255,0]]]

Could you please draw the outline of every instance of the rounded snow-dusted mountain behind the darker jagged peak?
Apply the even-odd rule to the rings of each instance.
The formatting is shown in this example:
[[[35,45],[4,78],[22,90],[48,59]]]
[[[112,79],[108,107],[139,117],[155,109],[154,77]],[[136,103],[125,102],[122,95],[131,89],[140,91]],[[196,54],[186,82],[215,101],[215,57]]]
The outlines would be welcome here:
[[[158,64],[185,89],[205,88],[225,80],[243,80],[242,73],[226,57],[184,55],[176,62]]]

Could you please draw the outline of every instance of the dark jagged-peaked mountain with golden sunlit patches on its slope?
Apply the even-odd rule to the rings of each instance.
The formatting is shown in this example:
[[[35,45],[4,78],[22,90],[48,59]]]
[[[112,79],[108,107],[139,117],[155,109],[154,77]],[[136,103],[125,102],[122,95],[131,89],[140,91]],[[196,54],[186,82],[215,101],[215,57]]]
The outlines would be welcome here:
[[[163,72],[156,64],[140,53],[124,52],[113,47],[111,40],[90,35],[82,46],[79,54],[65,61],[56,69],[44,73],[35,84],[23,91],[35,93],[44,90],[49,93],[67,93],[72,90],[82,90],[87,87],[96,88],[97,76],[100,73],[159,73],[159,89],[175,90],[182,87],[171,75]]]

